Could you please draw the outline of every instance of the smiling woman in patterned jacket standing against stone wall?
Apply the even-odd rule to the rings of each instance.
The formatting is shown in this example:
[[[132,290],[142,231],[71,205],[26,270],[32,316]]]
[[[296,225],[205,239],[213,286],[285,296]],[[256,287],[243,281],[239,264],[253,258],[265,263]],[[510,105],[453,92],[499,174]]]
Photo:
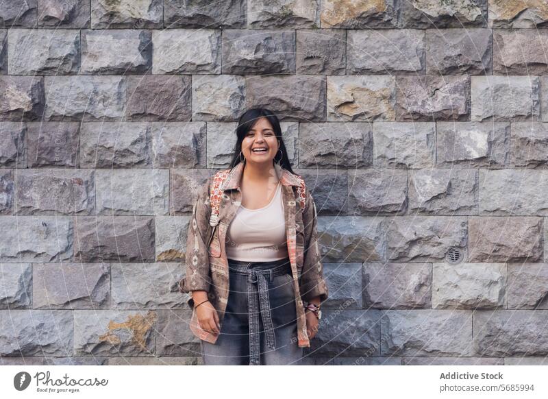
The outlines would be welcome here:
[[[297,364],[328,295],[316,205],[272,112],[247,110],[236,135],[232,168],[203,184],[188,226],[190,329],[206,365]]]

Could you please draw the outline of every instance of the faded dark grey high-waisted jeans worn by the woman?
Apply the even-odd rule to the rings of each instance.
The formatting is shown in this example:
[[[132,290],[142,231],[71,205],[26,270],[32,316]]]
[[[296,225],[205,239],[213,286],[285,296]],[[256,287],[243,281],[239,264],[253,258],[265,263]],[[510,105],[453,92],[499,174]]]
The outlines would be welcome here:
[[[229,259],[229,296],[216,343],[201,341],[206,365],[297,365],[297,311],[289,259]]]

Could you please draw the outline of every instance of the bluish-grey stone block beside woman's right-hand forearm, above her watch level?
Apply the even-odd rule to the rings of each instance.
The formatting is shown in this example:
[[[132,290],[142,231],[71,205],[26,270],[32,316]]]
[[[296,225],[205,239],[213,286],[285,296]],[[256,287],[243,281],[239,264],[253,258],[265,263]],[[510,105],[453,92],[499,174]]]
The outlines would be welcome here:
[[[329,298],[322,303],[322,309],[362,308],[361,263],[324,263],[323,275]]]

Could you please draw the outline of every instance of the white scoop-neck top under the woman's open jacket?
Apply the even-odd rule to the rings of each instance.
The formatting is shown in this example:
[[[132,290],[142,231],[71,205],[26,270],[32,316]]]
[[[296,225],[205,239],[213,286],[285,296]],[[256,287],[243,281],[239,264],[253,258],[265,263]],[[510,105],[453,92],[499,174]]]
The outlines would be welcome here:
[[[259,209],[238,208],[228,226],[227,258],[244,262],[277,261],[288,256],[282,185],[274,197]]]

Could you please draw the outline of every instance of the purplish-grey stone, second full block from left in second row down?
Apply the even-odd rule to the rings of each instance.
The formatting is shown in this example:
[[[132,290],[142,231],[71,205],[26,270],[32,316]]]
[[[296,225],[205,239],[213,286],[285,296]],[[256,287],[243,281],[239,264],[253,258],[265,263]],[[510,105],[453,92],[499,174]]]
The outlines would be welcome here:
[[[151,32],[132,29],[82,29],[82,75],[148,73]]]

